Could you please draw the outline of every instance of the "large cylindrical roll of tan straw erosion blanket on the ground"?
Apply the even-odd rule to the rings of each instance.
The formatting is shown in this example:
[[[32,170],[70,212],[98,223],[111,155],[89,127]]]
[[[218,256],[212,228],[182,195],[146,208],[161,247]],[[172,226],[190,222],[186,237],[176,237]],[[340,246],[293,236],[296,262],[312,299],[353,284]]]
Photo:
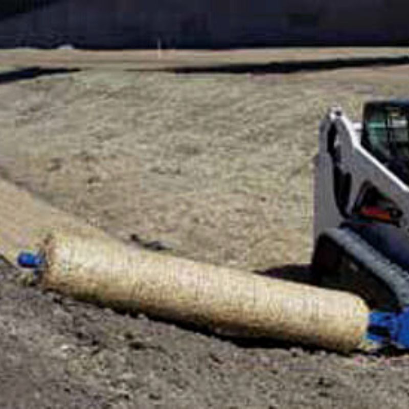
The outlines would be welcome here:
[[[122,310],[230,334],[349,351],[368,309],[352,294],[150,253],[114,240],[54,234],[42,285]]]

